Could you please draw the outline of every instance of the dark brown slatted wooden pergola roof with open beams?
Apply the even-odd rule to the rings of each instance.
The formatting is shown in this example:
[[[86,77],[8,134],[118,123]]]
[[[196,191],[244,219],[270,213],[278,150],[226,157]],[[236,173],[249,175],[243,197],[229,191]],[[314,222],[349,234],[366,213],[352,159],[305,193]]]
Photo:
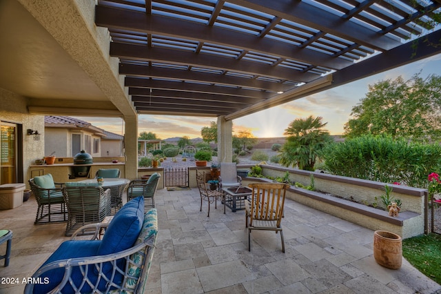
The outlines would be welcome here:
[[[138,113],[235,119],[438,54],[407,41],[439,43],[427,2],[99,0],[95,23]]]

